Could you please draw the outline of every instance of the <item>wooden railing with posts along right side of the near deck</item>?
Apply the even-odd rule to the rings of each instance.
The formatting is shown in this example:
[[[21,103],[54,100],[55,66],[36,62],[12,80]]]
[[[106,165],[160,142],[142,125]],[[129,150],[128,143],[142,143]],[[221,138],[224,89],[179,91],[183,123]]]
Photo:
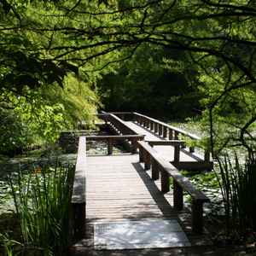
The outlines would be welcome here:
[[[161,191],[170,191],[170,176],[173,179],[173,205],[175,209],[183,209],[183,190],[192,197],[192,232],[203,233],[203,203],[210,201],[201,190],[197,189],[181,172],[164,159],[146,142],[138,142],[139,159],[145,163],[145,169],[151,169],[152,178],[161,179]]]

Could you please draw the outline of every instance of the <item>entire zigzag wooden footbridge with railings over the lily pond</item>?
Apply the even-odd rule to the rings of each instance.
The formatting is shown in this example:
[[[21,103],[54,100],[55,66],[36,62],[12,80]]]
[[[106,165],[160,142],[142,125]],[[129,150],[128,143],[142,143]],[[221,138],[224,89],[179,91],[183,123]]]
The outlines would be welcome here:
[[[140,229],[144,229],[142,226],[145,224],[158,227],[164,224],[168,229],[169,224],[170,229],[172,224],[181,227],[168,235],[174,238],[172,243],[166,241],[164,246],[161,244],[164,238],[157,243],[155,239],[158,235],[150,233],[155,229],[153,226],[149,227],[150,232],[147,231],[150,234],[142,230],[134,231],[132,237],[149,234],[146,239],[150,240],[154,236],[153,246],[150,242],[138,242],[143,243],[143,247],[212,244],[203,228],[203,203],[209,198],[177,170],[212,169],[209,153],[195,153],[195,148],[186,147],[183,140],[184,137],[193,140],[200,137],[139,113],[102,113],[99,117],[104,122],[102,125],[108,126],[113,135],[79,138],[72,198],[74,236],[79,239],[75,247],[89,250],[140,248],[131,244],[136,241],[130,241],[128,247],[108,241],[106,236],[113,235],[111,229],[124,229],[127,223],[133,224],[132,228],[128,225],[128,230],[133,229],[135,224]],[[86,155],[86,141],[89,140],[108,141],[108,154]],[[123,143],[130,153],[113,154],[113,140]],[[173,189],[170,189],[170,177]],[[192,214],[183,207],[183,191],[193,200]],[[127,230],[124,232],[128,233]],[[178,241],[176,236],[185,238]],[[117,240],[116,237],[114,239]]]

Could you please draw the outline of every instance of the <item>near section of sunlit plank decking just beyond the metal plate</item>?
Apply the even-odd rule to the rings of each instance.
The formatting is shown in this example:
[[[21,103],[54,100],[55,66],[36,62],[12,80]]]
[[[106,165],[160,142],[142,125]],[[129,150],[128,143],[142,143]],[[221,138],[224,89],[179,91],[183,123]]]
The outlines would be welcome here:
[[[87,224],[177,219],[192,245],[211,244],[206,234],[192,235],[187,209],[175,210],[172,206],[172,190],[166,194],[160,191],[160,180],[151,179],[150,170],[143,169],[138,154],[87,155]]]

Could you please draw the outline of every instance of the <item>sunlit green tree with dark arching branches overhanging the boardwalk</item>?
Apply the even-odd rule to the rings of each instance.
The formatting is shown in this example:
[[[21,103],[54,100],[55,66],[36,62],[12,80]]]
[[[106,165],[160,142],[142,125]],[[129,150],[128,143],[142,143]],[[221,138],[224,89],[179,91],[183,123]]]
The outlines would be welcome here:
[[[3,9],[7,9],[4,4]],[[12,11],[13,21],[3,28],[4,38],[18,27],[19,32],[23,32],[22,38],[31,40],[28,46],[18,45],[32,55],[34,66],[39,67],[38,62],[42,65],[41,70],[49,63],[55,63],[54,67],[62,64],[68,67],[67,63],[71,63],[71,67],[83,67],[87,74],[104,67],[111,72],[113,63],[131,58],[145,44],[186,52],[187,61],[174,60],[172,68],[183,67],[189,82],[205,98],[201,103],[207,109],[212,154],[215,154],[215,146],[223,148],[230,142],[236,143],[230,136],[221,145],[214,142],[218,134],[215,122],[222,116],[225,117],[222,121],[229,119],[230,110],[232,116],[236,113],[239,119],[239,113],[247,113],[241,122],[237,122],[238,119],[232,122],[233,126],[239,125],[236,144],[248,147],[247,137],[253,139],[249,128],[256,115],[252,97],[248,97],[254,96],[256,82],[256,7],[253,1],[140,0],[126,1],[123,5],[114,0],[33,1],[20,19],[17,12]],[[10,13],[9,10],[8,15]],[[24,55],[21,59],[22,56],[24,63],[31,60]],[[6,68],[8,61],[10,59],[2,61]],[[32,70],[34,66],[24,69]],[[13,67],[17,65],[13,64]],[[61,85],[61,79],[58,79],[61,70],[57,69],[58,78],[55,74],[53,79],[49,73],[55,72],[53,68],[49,70],[44,79]],[[3,74],[4,86],[7,86],[7,81],[12,81],[12,77],[8,72]],[[43,79],[38,72],[34,72],[33,77]]]

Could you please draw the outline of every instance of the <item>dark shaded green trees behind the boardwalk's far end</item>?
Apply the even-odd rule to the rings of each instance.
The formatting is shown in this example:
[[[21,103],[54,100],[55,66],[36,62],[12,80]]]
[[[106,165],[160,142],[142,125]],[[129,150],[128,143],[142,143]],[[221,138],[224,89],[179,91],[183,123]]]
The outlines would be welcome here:
[[[170,72],[162,65],[163,56],[172,54],[172,50],[145,45],[112,73],[102,74],[97,85],[105,109],[148,113],[161,118],[168,116],[169,119],[195,114],[192,106],[195,107],[196,102],[189,96],[192,88],[183,74]],[[170,100],[175,96],[179,101]]]

